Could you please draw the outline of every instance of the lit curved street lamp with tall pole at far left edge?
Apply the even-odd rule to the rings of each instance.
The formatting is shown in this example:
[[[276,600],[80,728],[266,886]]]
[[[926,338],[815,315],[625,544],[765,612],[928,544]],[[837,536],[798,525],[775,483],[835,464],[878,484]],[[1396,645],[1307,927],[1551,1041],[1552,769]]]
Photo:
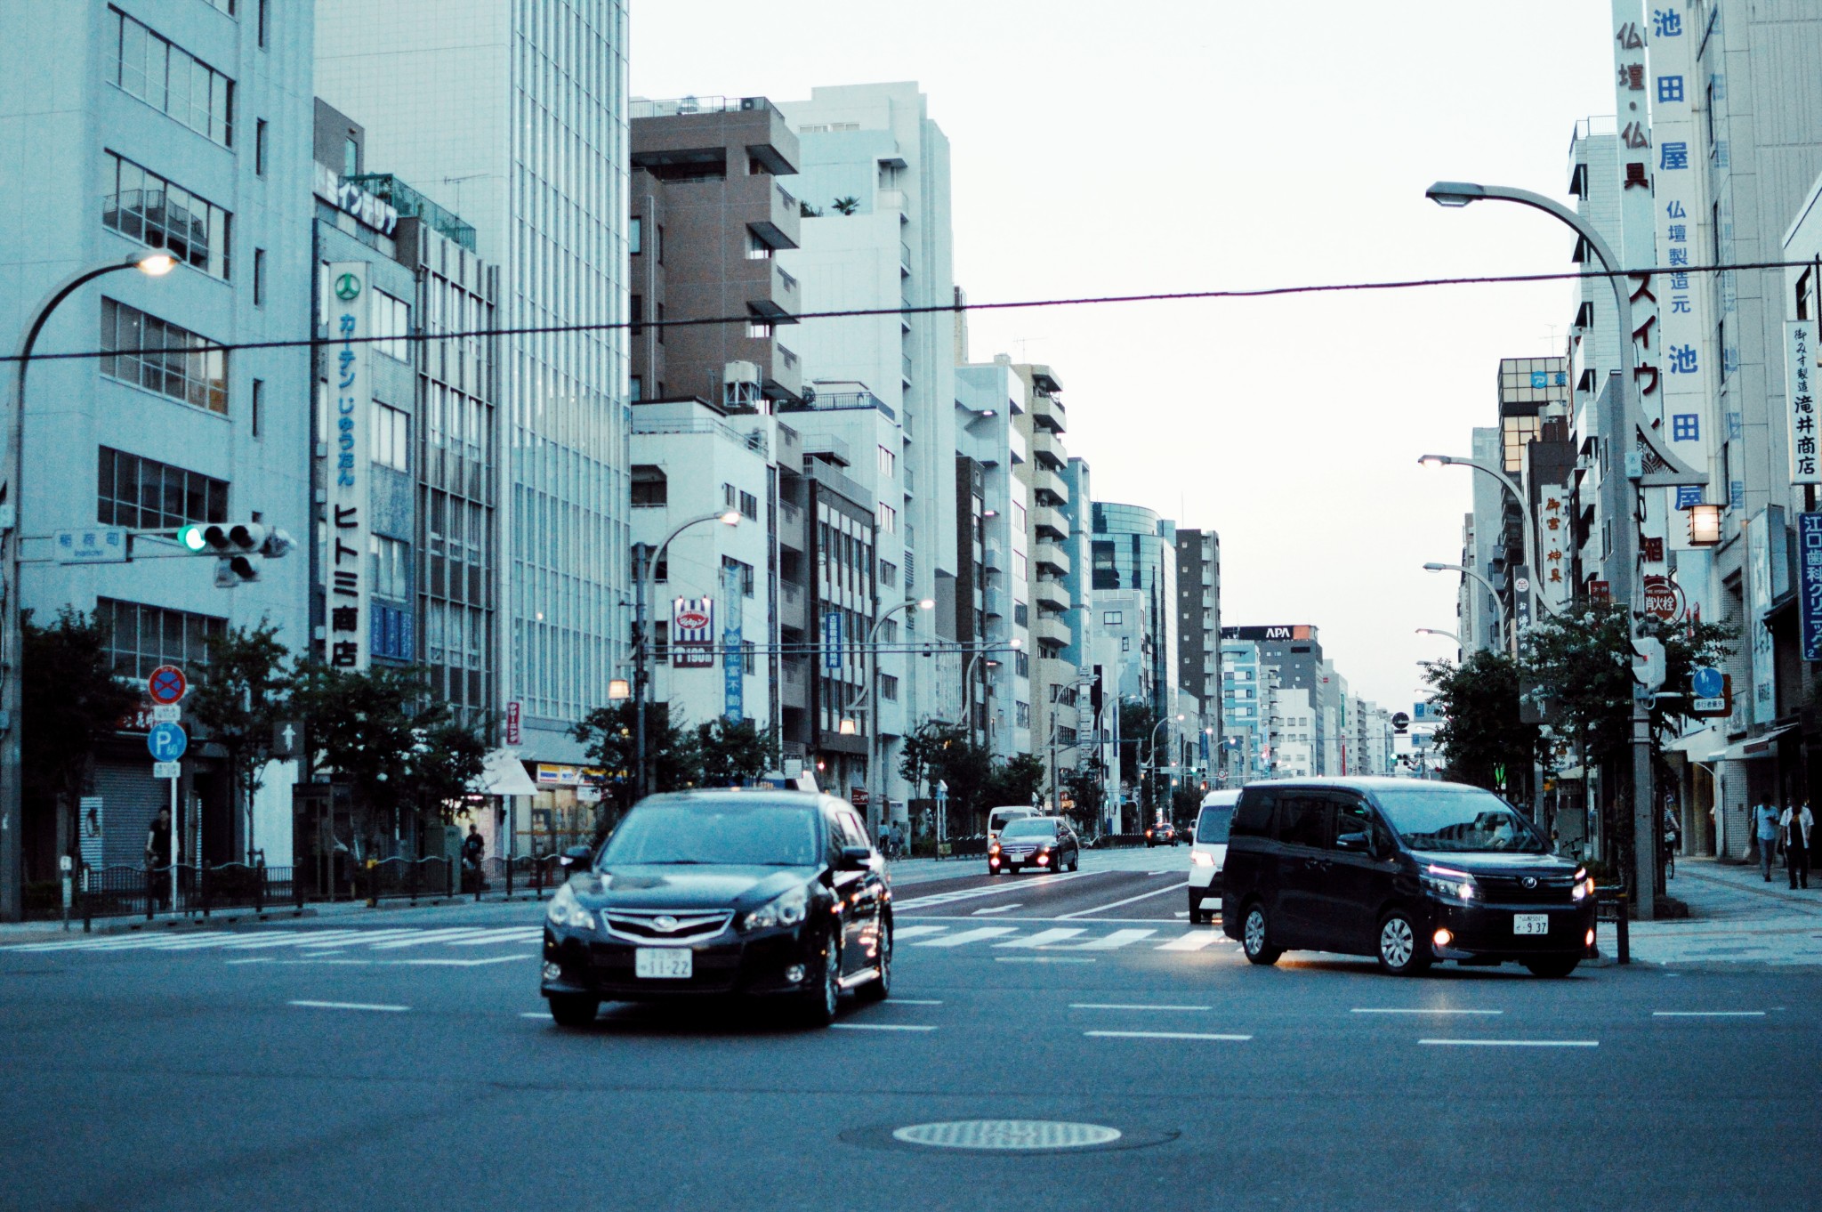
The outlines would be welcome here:
[[[155,250],[64,279],[44,297],[38,310],[31,313],[31,323],[26,326],[26,335],[18,343],[18,354],[15,355],[18,372],[13,381],[13,408],[5,421],[5,457],[0,461],[0,467],[5,468],[5,483],[0,485],[0,543],[5,543],[5,583],[0,585],[0,616],[4,616],[4,621],[0,621],[0,920],[5,922],[16,922],[24,915],[22,895],[26,880],[18,782],[18,733],[20,707],[24,704],[24,696],[20,694],[20,643],[24,638],[18,621],[24,594],[20,592],[18,547],[26,536],[26,492],[22,483],[26,474],[26,368],[31,366],[31,350],[38,344],[38,334],[44,332],[51,312],[80,286],[102,275],[118,273],[120,270],[138,270],[146,277],[164,277],[175,268],[177,257]]]

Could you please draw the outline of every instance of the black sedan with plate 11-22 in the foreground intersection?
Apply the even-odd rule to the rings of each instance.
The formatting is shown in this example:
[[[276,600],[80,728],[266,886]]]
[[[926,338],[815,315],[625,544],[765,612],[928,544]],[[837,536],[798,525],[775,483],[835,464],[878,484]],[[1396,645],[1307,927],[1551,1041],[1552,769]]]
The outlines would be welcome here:
[[[550,1017],[603,1001],[780,997],[827,1026],[893,981],[891,884],[855,809],[798,791],[641,800],[545,919]]]

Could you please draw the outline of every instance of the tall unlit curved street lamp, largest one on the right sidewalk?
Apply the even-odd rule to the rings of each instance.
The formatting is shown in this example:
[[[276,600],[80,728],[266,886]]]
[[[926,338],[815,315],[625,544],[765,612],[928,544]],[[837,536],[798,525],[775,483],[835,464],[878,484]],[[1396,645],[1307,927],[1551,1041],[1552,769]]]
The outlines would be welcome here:
[[[1643,578],[1638,574],[1638,492],[1627,488],[1627,481],[1643,487],[1705,485],[1707,472],[1698,472],[1673,456],[1656,432],[1645,421],[1638,403],[1638,383],[1633,375],[1633,297],[1627,288],[1625,272],[1618,257],[1607,248],[1600,231],[1583,222],[1567,206],[1552,202],[1541,193],[1512,190],[1509,186],[1481,186],[1469,180],[1438,180],[1425,191],[1438,206],[1467,206],[1481,199],[1500,202],[1518,202],[1532,206],[1567,224],[1587,241],[1594,259],[1607,272],[1612,286],[1612,303],[1618,313],[1620,334],[1620,383],[1607,392],[1607,408],[1602,417],[1602,514],[1614,523],[1612,530],[1612,581],[1614,601],[1627,603],[1627,634],[1631,636],[1636,620],[1643,618]],[[1618,441],[1614,441],[1618,437]],[[1662,459],[1662,470],[1645,470],[1645,457],[1638,443]],[[1618,467],[1607,463],[1618,459]],[[1645,920],[1656,917],[1656,815],[1651,787],[1651,704],[1633,696],[1633,895],[1638,915]]]

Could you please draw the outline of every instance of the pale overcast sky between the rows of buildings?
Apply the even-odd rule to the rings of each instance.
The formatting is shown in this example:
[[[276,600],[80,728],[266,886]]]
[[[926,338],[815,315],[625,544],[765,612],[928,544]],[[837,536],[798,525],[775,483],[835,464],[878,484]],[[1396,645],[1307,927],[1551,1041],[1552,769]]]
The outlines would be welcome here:
[[[791,100],[916,80],[953,148],[971,301],[1567,272],[1518,206],[1563,197],[1612,113],[1591,0],[632,0],[632,91]],[[1454,647],[1467,454],[1500,357],[1561,352],[1572,286],[977,313],[971,357],[1049,363],[1095,496],[1221,532],[1226,623],[1315,623],[1350,689],[1408,709]]]

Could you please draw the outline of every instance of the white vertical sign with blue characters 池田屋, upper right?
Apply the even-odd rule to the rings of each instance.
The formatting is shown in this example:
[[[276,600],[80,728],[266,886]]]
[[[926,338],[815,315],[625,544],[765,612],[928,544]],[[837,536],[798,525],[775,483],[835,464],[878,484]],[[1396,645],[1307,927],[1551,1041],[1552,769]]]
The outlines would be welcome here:
[[[1707,470],[1715,425],[1709,375],[1716,366],[1705,282],[1689,277],[1689,266],[1700,261],[1700,248],[1705,246],[1698,235],[1707,208],[1702,204],[1702,173],[1691,157],[1691,148],[1696,146],[1694,98],[1700,77],[1687,9],[1689,0],[1651,4],[1651,135],[1656,144],[1653,204],[1658,264],[1665,270],[1654,284],[1663,352],[1663,426],[1658,436],[1685,465]],[[1682,485],[1671,492],[1676,510],[1705,499],[1700,485]],[[1687,514],[1667,525],[1665,538],[1673,550],[1691,549]]]

